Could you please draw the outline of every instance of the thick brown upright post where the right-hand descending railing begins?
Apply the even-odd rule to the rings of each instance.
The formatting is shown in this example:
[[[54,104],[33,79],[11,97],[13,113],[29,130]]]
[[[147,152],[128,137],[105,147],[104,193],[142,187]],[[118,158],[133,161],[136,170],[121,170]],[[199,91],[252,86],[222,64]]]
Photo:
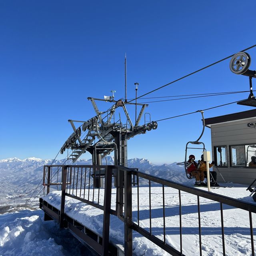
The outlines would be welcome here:
[[[132,256],[132,172],[124,171],[124,255]]]

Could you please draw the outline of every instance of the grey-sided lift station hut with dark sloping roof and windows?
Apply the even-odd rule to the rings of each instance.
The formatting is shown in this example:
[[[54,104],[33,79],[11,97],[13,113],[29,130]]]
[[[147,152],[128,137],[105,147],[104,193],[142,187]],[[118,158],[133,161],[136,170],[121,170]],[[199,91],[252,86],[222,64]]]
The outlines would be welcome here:
[[[256,156],[256,110],[206,118],[205,125],[211,129],[218,181],[219,170],[226,182],[250,184],[256,178],[256,166],[249,166]]]

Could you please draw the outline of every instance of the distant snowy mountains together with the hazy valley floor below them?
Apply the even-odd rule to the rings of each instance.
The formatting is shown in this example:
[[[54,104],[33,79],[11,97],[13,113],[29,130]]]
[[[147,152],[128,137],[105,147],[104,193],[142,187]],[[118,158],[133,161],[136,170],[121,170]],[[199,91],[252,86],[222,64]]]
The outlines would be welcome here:
[[[55,160],[53,159],[40,159],[40,158],[26,158],[21,160],[19,158],[7,158],[0,160],[0,182],[2,189],[0,190],[0,204],[8,204],[9,200],[17,198],[21,194],[28,194],[22,198],[17,198],[11,202],[18,202],[25,204],[26,200],[32,195],[33,188],[38,189],[42,187],[43,166],[44,165],[62,165],[66,159]],[[72,160],[68,160],[65,164],[73,164]],[[78,159],[74,165],[91,165],[92,159]],[[114,157],[106,156],[102,159],[102,164],[114,165]],[[144,158],[132,158],[128,160],[128,167],[138,168],[139,171],[151,174],[174,182],[184,183],[187,182],[187,178],[184,174],[183,166],[173,164],[155,165]],[[36,191],[33,197],[42,191]],[[34,200],[34,204],[38,204],[38,200]],[[1,213],[1,206],[0,206]]]

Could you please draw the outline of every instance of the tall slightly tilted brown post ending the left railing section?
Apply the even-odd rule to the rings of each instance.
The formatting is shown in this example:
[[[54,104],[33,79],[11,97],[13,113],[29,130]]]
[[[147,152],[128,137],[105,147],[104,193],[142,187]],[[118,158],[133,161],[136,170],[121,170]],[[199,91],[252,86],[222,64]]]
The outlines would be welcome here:
[[[111,189],[112,189],[112,168],[106,166],[105,188],[104,188],[104,215],[102,232],[102,255],[108,255],[110,209],[111,209]]]

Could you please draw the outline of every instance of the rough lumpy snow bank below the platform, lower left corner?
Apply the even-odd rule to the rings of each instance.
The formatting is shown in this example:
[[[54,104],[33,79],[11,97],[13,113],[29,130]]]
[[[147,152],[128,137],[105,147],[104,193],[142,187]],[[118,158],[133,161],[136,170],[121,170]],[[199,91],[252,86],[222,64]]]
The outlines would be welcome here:
[[[54,221],[44,222],[42,210],[0,215],[0,256],[73,256],[88,250]],[[90,255],[89,253],[86,255]]]

